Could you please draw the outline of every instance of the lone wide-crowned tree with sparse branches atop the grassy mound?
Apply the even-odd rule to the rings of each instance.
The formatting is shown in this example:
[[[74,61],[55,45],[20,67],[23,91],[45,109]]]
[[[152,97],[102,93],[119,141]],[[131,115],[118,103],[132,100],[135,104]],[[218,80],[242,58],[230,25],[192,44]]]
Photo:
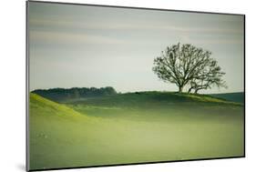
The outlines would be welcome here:
[[[210,51],[190,44],[173,45],[154,59],[152,70],[161,80],[178,86],[179,92],[183,92],[187,85],[189,93],[192,90],[198,93],[212,86],[226,87],[222,79],[225,73],[210,56]]]

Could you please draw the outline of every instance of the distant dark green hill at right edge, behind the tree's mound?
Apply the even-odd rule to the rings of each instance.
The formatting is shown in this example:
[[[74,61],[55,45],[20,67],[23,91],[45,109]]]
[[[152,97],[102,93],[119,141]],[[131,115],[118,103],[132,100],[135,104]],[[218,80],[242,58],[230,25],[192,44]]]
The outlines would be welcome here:
[[[224,94],[211,94],[210,96],[214,96],[217,98],[222,98],[232,102],[238,102],[244,104],[244,92],[238,93],[224,93]]]

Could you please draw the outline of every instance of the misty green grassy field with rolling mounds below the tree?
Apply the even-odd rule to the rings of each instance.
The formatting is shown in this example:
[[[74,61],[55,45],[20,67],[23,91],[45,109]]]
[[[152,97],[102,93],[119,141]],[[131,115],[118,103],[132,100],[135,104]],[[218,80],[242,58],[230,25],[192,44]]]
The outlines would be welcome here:
[[[241,157],[244,106],[138,92],[72,99],[30,94],[30,169]]]

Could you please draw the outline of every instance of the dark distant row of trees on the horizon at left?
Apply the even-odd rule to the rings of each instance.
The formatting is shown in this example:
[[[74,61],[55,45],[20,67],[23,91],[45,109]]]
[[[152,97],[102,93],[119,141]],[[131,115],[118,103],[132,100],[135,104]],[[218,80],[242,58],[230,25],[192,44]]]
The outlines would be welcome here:
[[[72,87],[72,88],[51,88],[36,89],[32,91],[39,96],[46,97],[56,102],[63,102],[74,98],[87,98],[95,96],[111,96],[116,95],[117,91],[111,87]]]

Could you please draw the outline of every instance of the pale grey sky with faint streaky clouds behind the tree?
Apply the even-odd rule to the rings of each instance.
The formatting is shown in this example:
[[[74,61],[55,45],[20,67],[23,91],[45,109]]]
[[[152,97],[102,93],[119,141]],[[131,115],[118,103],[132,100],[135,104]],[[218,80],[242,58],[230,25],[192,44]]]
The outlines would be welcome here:
[[[118,92],[177,91],[152,72],[167,46],[212,52],[229,86],[243,91],[243,16],[29,2],[30,90],[113,86]]]

